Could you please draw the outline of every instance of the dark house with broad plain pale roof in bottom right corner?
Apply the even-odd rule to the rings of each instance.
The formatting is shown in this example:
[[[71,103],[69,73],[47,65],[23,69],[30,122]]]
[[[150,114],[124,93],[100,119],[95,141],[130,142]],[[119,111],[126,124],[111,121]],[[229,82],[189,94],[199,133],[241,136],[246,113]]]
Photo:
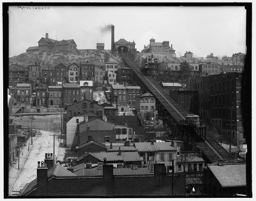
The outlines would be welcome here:
[[[246,164],[208,164],[204,173],[206,193],[213,197],[247,194]]]

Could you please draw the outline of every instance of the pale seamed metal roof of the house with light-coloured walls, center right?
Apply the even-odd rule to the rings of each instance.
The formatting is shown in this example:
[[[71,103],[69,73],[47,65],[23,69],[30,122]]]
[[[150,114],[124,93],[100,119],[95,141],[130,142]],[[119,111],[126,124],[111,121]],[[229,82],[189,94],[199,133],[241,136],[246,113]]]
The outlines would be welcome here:
[[[135,148],[137,148],[138,152],[157,152],[157,151],[164,151],[164,150],[176,150],[175,147],[171,146],[171,142],[165,143],[134,143]]]

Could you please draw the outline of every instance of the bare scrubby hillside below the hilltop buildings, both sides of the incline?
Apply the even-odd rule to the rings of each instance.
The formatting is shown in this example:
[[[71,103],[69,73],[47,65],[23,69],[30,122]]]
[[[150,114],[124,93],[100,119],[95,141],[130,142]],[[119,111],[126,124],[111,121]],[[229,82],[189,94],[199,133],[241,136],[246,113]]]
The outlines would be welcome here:
[[[137,56],[135,57],[135,61],[141,65],[142,58],[146,58],[148,56],[151,56],[151,53],[137,53]],[[165,62],[183,62],[185,61],[185,58],[183,57],[177,57],[173,58],[169,54],[154,54],[154,56],[159,58],[159,61],[165,61]],[[49,51],[49,52],[29,52],[29,53],[22,53],[18,56],[13,56],[9,58],[9,64],[11,63],[17,63],[21,66],[28,66],[31,64],[34,64],[35,62],[39,63],[43,68],[54,68],[54,66],[58,65],[59,63],[63,63],[65,65],[69,65],[71,63],[79,63],[80,61],[86,61],[89,60],[91,62],[105,62],[105,61],[111,61],[115,60],[119,63],[119,65],[123,66],[122,58],[118,55],[111,54],[110,51],[103,50],[99,51],[97,49],[79,49],[77,51]],[[209,59],[204,57],[199,58],[191,58],[190,60],[187,60],[188,62],[195,62],[195,63],[201,63],[201,62],[217,62],[218,64],[229,64],[229,65],[235,65],[236,62],[228,61],[228,60],[215,60],[215,59]],[[240,63],[237,62],[237,65]]]

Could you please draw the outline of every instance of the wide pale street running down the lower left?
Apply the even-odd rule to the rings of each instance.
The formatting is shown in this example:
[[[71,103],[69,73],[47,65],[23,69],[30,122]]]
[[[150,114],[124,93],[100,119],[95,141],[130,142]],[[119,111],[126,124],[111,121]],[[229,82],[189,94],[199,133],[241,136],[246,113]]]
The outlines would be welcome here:
[[[9,195],[17,194],[26,183],[36,179],[37,161],[43,161],[45,153],[53,153],[53,132],[43,131],[42,134],[33,137],[33,146],[31,138],[26,145],[20,149],[20,170],[18,170],[18,161],[13,164],[9,170]],[[28,150],[28,144],[29,150]],[[59,140],[55,133],[55,156],[58,156]]]

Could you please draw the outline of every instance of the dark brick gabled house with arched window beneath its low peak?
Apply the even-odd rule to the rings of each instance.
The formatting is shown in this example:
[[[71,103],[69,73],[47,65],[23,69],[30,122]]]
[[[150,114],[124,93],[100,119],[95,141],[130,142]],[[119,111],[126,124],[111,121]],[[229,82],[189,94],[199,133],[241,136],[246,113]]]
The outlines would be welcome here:
[[[102,116],[104,114],[104,106],[89,100],[74,102],[67,106],[67,120],[71,119],[73,116],[84,114],[86,112],[92,112]]]

